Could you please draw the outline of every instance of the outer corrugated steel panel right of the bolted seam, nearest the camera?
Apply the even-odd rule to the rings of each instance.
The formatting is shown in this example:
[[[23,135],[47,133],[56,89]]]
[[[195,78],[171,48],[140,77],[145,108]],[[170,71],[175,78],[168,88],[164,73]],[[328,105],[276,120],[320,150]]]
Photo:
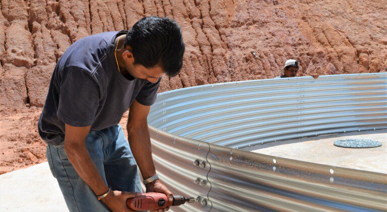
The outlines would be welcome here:
[[[213,208],[251,210],[383,210],[386,175],[289,160],[210,144]],[[227,173],[227,174],[225,174]]]

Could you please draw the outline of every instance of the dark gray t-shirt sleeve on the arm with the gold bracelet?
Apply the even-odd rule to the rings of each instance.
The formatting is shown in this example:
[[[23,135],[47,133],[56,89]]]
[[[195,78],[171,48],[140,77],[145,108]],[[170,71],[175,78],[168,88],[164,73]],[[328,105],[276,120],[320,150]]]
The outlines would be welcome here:
[[[62,72],[57,117],[74,126],[86,127],[94,122],[99,108],[99,86],[83,69],[68,67]]]

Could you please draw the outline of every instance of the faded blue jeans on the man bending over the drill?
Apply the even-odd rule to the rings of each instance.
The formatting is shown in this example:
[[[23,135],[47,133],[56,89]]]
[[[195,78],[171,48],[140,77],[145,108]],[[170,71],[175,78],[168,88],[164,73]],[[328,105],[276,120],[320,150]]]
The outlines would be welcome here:
[[[86,137],[86,146],[99,174],[110,188],[142,192],[137,163],[120,125],[91,131]],[[109,211],[75,171],[63,144],[47,145],[46,156],[70,211]]]

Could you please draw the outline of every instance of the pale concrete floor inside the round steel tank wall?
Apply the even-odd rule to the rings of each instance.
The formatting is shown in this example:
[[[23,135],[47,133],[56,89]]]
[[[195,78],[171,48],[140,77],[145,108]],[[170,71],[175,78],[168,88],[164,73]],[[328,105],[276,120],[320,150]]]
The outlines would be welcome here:
[[[333,145],[338,139],[372,139],[382,143],[374,148],[343,148]],[[341,133],[293,139],[251,146],[243,150],[387,174],[387,130]]]

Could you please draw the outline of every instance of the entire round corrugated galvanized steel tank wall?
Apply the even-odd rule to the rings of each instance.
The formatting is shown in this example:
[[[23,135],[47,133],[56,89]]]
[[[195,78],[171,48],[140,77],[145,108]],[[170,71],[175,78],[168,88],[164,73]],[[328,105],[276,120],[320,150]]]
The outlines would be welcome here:
[[[158,95],[148,123],[163,181],[176,194],[207,196],[206,206],[185,204],[175,210],[387,209],[387,175],[233,149],[387,129],[386,73],[168,91]],[[207,167],[193,165],[197,159],[207,161]],[[197,178],[208,185],[193,183]]]

